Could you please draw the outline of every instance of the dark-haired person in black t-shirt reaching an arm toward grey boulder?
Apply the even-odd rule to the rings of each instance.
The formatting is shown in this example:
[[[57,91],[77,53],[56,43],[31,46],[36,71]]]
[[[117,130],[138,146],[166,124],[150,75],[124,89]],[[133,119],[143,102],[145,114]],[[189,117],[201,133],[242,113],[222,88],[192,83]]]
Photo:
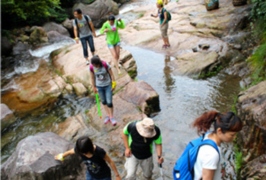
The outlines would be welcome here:
[[[55,156],[55,160],[64,161],[64,158],[71,154],[78,154],[87,165],[87,180],[111,180],[111,170],[107,163],[114,170],[116,180],[121,180],[114,161],[105,150],[98,145],[94,145],[89,137],[78,138],[75,148],[58,154]]]

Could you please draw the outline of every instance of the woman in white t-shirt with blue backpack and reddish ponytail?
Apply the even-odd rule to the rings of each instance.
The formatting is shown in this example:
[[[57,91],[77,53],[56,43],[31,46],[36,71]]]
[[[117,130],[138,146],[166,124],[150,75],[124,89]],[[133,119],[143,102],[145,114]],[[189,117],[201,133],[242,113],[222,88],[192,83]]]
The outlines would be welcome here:
[[[207,132],[211,125],[213,132]],[[225,161],[221,143],[230,143],[236,138],[237,132],[242,129],[242,121],[231,111],[224,114],[208,111],[194,121],[193,127],[203,136],[190,141],[177,160],[173,170],[174,179],[222,179]]]

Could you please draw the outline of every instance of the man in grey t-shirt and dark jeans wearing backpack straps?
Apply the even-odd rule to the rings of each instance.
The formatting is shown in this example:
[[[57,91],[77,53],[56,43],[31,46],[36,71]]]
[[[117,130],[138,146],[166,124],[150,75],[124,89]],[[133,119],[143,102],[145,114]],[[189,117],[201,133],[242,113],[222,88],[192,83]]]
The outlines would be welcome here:
[[[94,37],[96,37],[96,33],[94,30],[94,24],[91,22],[91,18],[88,15],[82,15],[80,9],[74,10],[74,16],[76,19],[73,21],[73,29],[75,40],[77,43],[81,42],[83,48],[83,55],[86,60],[86,64],[89,65],[89,55],[88,55],[88,46],[87,42],[89,43],[89,48],[91,49],[91,54],[94,55],[95,48],[94,48]],[[78,33],[80,38],[78,38]]]

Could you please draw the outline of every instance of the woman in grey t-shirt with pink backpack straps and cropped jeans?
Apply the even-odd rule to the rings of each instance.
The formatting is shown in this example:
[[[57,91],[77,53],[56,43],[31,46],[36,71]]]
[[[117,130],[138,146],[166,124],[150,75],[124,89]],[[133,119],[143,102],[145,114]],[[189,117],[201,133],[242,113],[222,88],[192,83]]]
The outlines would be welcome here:
[[[116,125],[114,119],[114,107],[112,103],[113,91],[116,89],[116,82],[114,81],[114,74],[108,62],[100,60],[98,55],[91,57],[91,65],[89,66],[91,73],[92,89],[98,91],[100,100],[105,107],[107,116],[105,124],[112,123]]]

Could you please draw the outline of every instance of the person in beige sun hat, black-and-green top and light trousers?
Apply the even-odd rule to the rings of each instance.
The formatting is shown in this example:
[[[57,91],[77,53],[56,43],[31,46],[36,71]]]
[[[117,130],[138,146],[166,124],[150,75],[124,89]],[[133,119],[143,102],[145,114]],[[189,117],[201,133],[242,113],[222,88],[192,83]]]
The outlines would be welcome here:
[[[144,118],[141,121],[132,121],[123,129],[123,141],[125,145],[125,170],[127,171],[126,180],[136,179],[136,170],[141,166],[144,179],[151,179],[152,162],[152,143],[155,143],[157,161],[163,163],[161,156],[161,132],[159,127],[154,125],[151,118]],[[159,158],[160,157],[160,158]]]

